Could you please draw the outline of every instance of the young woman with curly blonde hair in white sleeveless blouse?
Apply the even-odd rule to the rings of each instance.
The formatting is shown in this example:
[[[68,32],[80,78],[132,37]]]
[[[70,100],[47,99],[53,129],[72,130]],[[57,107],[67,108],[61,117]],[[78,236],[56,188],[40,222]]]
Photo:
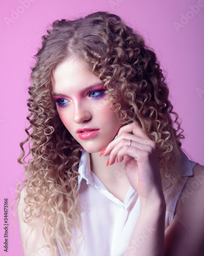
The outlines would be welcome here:
[[[155,53],[107,12],[47,32],[20,144],[24,255],[204,255],[204,168]]]

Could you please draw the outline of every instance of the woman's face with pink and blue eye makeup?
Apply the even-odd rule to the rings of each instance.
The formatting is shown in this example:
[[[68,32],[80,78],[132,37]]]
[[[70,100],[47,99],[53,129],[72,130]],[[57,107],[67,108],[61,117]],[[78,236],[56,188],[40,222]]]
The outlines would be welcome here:
[[[88,64],[75,58],[60,63],[52,86],[58,114],[70,134],[89,153],[106,148],[122,125],[105,100],[103,82]]]

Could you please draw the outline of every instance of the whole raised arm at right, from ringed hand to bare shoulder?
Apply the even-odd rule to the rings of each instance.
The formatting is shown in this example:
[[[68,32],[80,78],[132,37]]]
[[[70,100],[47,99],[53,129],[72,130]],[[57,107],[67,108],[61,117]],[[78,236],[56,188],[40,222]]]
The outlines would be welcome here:
[[[120,128],[118,137],[106,148],[109,164],[123,161],[127,178],[140,198],[140,216],[127,246],[128,256],[200,256],[204,255],[204,170],[194,168],[189,178],[194,189],[177,205],[175,218],[164,231],[164,200],[156,144],[134,122]],[[198,182],[200,179],[200,183]],[[193,183],[194,182],[194,183]],[[191,184],[190,183],[190,184]],[[188,184],[188,183],[187,183]],[[193,185],[194,184],[194,185]],[[183,202],[182,202],[183,199]]]

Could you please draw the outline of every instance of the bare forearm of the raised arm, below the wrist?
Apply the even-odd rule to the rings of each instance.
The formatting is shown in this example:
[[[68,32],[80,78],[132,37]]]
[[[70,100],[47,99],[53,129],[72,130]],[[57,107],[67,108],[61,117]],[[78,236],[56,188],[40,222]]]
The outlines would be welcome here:
[[[141,205],[140,215],[125,256],[164,255],[165,210],[165,202],[156,198],[152,200],[152,204]]]

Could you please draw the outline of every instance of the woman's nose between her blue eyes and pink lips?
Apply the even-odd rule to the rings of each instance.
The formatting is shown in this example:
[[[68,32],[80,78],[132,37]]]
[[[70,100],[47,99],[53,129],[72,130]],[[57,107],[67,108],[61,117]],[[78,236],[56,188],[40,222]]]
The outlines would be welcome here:
[[[79,102],[74,105],[74,113],[73,113],[74,122],[82,123],[84,121],[90,120],[91,117],[92,117],[91,111],[86,104]]]

